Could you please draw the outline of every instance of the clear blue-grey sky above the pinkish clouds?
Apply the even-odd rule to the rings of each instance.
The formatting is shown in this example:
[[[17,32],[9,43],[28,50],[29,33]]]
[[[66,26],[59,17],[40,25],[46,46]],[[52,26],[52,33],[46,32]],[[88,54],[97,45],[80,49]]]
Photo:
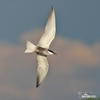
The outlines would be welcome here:
[[[59,35],[100,40],[99,0],[0,0],[0,40],[18,42],[22,32],[44,27],[51,5]]]

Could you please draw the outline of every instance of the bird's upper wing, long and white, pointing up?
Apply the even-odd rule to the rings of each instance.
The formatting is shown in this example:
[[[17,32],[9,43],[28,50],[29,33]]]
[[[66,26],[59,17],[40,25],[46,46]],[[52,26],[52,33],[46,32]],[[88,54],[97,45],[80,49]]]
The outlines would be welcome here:
[[[38,46],[48,49],[52,40],[55,37],[55,33],[56,33],[55,11],[54,8],[52,7],[50,16],[45,26],[44,34],[40,38]]]

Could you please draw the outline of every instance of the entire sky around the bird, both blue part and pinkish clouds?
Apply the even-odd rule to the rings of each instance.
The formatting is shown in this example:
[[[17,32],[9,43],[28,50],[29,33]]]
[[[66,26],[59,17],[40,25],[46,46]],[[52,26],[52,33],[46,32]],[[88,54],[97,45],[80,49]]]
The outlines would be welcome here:
[[[37,43],[51,6],[57,32],[50,68],[35,88],[36,55],[24,54],[25,41]],[[79,100],[79,91],[100,96],[99,0],[0,0],[0,99]]]

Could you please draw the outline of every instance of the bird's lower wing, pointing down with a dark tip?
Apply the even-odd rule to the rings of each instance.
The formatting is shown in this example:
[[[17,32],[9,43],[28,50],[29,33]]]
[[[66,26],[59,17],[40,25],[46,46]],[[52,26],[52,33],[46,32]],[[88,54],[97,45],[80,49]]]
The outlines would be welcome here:
[[[36,87],[42,83],[45,79],[47,72],[48,72],[48,61],[46,56],[38,55],[37,54],[37,80],[36,80]]]

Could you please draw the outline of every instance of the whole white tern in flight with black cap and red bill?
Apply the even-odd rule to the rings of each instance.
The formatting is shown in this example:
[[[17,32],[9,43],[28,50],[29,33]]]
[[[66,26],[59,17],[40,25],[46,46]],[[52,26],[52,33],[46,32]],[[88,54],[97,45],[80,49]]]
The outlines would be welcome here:
[[[55,38],[56,33],[56,20],[54,8],[51,8],[51,13],[48,18],[47,24],[44,29],[44,34],[40,38],[39,43],[35,46],[30,41],[27,41],[25,53],[37,54],[37,80],[36,87],[38,87],[45,79],[48,72],[48,55],[56,55],[55,52],[49,49],[52,40]]]

